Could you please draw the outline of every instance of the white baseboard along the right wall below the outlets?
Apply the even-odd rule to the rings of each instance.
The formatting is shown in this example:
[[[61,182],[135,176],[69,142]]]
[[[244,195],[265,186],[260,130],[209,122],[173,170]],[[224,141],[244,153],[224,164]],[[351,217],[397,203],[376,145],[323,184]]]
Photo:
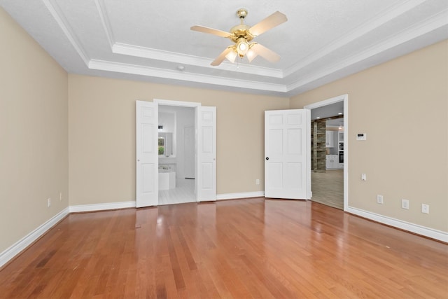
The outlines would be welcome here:
[[[391,218],[388,216],[375,214],[370,211],[365,211],[363,209],[357,209],[357,208],[353,208],[353,207],[347,207],[346,211],[351,214],[354,214],[354,215],[358,215],[358,216],[361,216],[361,217],[364,217],[364,218],[367,218],[367,219],[370,219],[373,221],[377,221],[379,223],[391,225],[395,228],[407,230],[408,232],[414,232],[417,235],[430,237],[432,239],[437,239],[442,242],[448,242],[448,232],[443,232],[442,230],[426,228],[425,226],[421,226],[421,225],[414,224],[414,223],[409,223],[406,221]]]

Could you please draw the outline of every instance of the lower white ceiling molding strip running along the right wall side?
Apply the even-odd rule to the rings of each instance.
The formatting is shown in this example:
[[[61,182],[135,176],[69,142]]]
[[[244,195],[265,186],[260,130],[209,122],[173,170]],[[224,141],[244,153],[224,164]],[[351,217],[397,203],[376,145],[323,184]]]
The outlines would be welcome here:
[[[306,78],[287,85],[287,90],[288,92],[290,92],[292,90],[300,88],[307,83],[311,83],[320,78],[323,78],[324,76],[328,76],[332,73],[335,73],[336,71],[349,67],[352,64],[356,64],[357,62],[366,60],[369,57],[382,53],[395,46],[400,46],[400,44],[402,43],[406,43],[407,41],[415,39],[416,37],[419,37],[423,34],[446,25],[448,25],[448,11],[442,11],[437,15],[434,15],[432,18],[428,18],[423,22],[409,27],[407,30],[401,32],[400,34],[390,36],[388,39],[382,41],[381,43],[377,43],[376,45],[358,53],[357,55],[352,55],[350,57],[347,57],[345,60],[330,64],[328,67],[325,67],[324,70],[316,71],[312,74],[307,74]]]

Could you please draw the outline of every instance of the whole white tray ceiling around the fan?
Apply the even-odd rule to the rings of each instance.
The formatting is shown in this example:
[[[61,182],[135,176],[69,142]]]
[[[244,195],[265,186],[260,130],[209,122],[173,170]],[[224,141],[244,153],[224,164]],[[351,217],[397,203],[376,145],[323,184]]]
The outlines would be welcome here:
[[[71,74],[289,97],[448,39],[447,0],[0,0]],[[229,31],[275,11],[288,22],[255,38],[281,55],[210,63],[232,43],[193,32]],[[4,41],[2,41],[4,42]],[[183,70],[179,70],[179,67]]]

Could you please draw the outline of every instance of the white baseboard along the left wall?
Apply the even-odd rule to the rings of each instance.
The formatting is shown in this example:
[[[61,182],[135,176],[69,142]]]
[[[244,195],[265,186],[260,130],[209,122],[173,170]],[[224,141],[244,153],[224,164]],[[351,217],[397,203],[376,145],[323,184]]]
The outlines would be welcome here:
[[[9,260],[13,259],[20,252],[27,248],[32,242],[36,241],[41,235],[45,234],[50,228],[52,228],[56,223],[61,221],[65,216],[69,214],[69,207],[66,207],[62,211],[59,211],[55,216],[50,218],[48,221],[40,225],[38,228],[30,232],[22,239],[15,242],[8,249],[0,253],[0,267],[8,263]]]

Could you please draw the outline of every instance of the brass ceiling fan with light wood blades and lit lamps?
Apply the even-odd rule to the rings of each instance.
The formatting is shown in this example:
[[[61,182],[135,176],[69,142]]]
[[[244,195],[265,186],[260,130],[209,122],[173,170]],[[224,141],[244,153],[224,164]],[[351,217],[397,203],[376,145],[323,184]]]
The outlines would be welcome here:
[[[284,22],[288,19],[286,15],[276,11],[269,17],[260,21],[258,24],[249,27],[245,25],[243,20],[247,16],[247,10],[241,8],[237,11],[238,18],[241,20],[240,25],[236,25],[230,29],[230,32],[225,32],[219,29],[213,29],[209,27],[204,27],[200,25],[195,25],[191,27],[191,30],[197,32],[204,32],[209,34],[215,34],[217,36],[226,37],[232,40],[235,44],[232,46],[228,46],[223,53],[221,53],[216,60],[211,62],[211,65],[218,66],[227,58],[230,62],[235,62],[235,58],[237,56],[244,57],[246,56],[248,61],[251,62],[255,57],[260,55],[265,58],[265,60],[269,62],[277,62],[280,60],[280,56],[272,50],[269,50],[265,46],[260,45],[260,43],[251,42],[256,36],[267,32],[267,30],[272,29]]]

